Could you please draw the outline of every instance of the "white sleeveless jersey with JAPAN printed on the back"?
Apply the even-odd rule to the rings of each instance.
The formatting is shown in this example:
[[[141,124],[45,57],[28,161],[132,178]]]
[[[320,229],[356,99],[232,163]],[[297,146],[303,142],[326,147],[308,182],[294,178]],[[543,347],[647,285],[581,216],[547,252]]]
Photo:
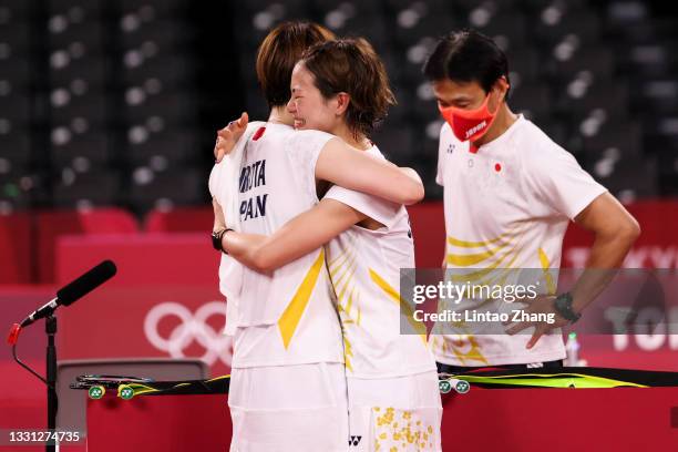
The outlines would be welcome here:
[[[271,235],[318,203],[316,162],[332,137],[273,123],[254,134],[240,165],[242,232]],[[322,248],[271,275],[245,269],[238,301],[234,368],[342,362]]]

